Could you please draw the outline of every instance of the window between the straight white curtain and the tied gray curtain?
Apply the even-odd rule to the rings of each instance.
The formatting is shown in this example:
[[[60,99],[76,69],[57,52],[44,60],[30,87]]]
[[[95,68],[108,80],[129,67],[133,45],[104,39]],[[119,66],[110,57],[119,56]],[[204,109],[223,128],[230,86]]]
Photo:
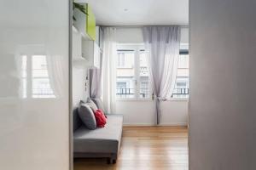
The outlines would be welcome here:
[[[116,80],[118,99],[150,99],[148,63],[142,45],[119,44]]]

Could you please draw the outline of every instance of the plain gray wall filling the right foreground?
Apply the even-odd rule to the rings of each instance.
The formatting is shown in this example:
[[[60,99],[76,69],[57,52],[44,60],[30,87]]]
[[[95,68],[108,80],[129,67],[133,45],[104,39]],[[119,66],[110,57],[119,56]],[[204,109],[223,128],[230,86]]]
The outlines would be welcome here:
[[[256,169],[255,8],[190,0],[189,170]]]

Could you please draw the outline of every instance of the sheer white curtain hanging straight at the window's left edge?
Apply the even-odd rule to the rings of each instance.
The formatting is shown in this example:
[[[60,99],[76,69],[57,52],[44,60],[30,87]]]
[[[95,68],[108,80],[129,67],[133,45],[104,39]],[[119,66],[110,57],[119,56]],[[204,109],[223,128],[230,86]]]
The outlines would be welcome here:
[[[108,113],[115,113],[116,103],[116,29],[103,28],[103,58],[102,58],[102,101]]]

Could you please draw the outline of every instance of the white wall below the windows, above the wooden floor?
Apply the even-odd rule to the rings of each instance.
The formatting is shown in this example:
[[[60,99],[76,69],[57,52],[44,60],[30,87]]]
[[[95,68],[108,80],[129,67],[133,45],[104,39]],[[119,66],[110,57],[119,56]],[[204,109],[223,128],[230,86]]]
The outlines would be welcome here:
[[[188,101],[163,102],[160,125],[186,126],[188,123]],[[125,125],[154,125],[155,105],[153,101],[118,101],[117,113],[124,115]]]

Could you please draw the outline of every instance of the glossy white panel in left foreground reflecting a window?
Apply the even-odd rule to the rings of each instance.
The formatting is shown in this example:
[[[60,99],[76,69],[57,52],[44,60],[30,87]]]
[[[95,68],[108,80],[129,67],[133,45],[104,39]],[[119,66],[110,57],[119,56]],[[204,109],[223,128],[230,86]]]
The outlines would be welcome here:
[[[0,169],[67,170],[68,1],[0,1]]]

